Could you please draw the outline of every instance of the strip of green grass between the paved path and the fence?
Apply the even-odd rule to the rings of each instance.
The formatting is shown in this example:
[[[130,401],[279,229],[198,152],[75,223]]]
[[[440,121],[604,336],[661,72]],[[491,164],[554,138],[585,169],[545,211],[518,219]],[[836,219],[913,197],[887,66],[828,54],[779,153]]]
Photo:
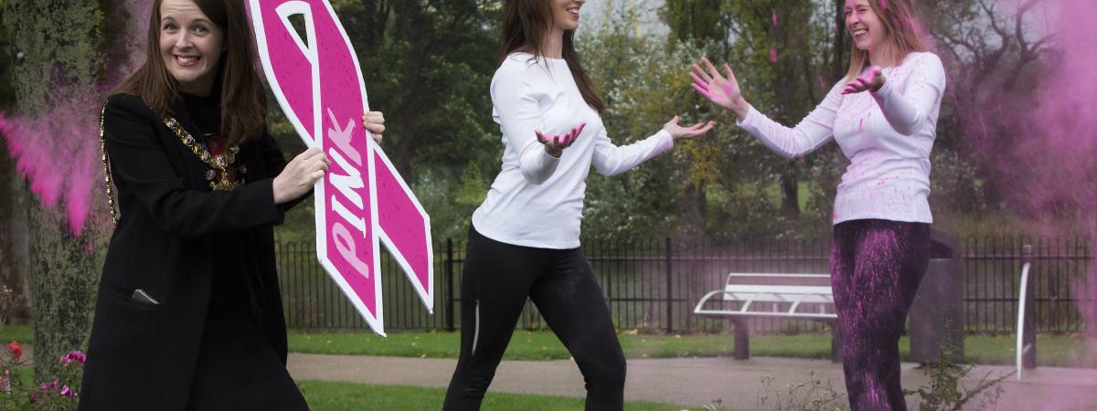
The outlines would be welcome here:
[[[629,358],[671,358],[691,356],[731,356],[735,351],[732,335],[664,335],[622,332],[621,347]],[[11,341],[34,343],[31,326],[0,328],[0,344]],[[968,335],[964,356],[972,364],[1011,365],[1016,361],[1017,340],[1010,335]],[[456,332],[389,332],[382,339],[369,332],[290,332],[290,351],[313,354],[378,355],[402,357],[456,358],[460,347]],[[1097,342],[1087,346],[1077,335],[1037,336],[1037,364],[1054,367],[1097,367]],[[900,341],[900,352],[909,358],[909,341]],[[828,334],[750,335],[750,355],[798,358],[829,358]],[[551,332],[516,331],[506,359],[564,359],[567,350]]]

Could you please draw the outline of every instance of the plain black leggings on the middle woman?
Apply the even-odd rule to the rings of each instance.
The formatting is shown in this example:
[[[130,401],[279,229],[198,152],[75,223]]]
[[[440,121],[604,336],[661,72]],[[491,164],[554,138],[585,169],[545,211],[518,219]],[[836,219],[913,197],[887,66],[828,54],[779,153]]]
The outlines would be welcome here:
[[[583,372],[587,410],[621,410],[624,354],[583,251],[508,244],[475,229],[461,284],[461,356],[442,409],[479,409],[527,296]]]

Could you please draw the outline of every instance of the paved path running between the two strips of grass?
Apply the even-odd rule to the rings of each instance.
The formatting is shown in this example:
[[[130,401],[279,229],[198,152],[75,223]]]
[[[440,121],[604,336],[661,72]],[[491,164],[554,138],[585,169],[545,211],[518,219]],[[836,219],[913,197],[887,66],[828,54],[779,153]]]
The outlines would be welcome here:
[[[354,381],[377,385],[445,387],[455,359],[290,354],[294,379]],[[1011,367],[980,366],[971,373],[1003,375]],[[625,399],[666,402],[699,410],[713,401],[734,410],[762,410],[764,377],[772,377],[769,401],[789,385],[819,380],[845,391],[841,366],[829,361],[753,357],[629,359]],[[926,385],[928,378],[914,364],[903,364],[903,386]],[[975,381],[966,381],[969,386]],[[1003,384],[997,410],[1097,411],[1097,369],[1040,367],[1026,370],[1025,380],[1010,377]],[[499,366],[491,391],[584,397],[583,376],[569,359],[508,361]],[[490,393],[489,393],[490,395]],[[788,398],[788,396],[783,396]],[[915,401],[908,398],[913,406]],[[441,407],[441,404],[439,404]]]

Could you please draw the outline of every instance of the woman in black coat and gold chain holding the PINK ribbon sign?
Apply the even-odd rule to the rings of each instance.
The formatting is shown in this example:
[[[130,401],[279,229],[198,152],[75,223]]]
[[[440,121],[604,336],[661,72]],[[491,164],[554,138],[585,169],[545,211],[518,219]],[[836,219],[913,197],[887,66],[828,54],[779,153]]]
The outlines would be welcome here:
[[[118,215],[80,409],[307,409],[285,369],[272,227],[328,160],[286,163],[267,133],[241,0],[155,1],[147,55],[103,107]]]

